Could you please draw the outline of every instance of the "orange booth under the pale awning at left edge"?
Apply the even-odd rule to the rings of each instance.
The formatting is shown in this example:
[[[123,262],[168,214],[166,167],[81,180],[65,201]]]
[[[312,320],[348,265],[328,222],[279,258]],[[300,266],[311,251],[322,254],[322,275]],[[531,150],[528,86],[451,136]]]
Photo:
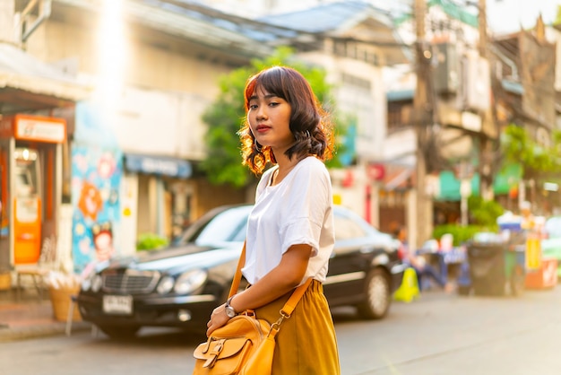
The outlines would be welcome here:
[[[0,251],[9,252],[12,265],[37,263],[43,240],[56,236],[65,140],[61,118],[0,120]]]

